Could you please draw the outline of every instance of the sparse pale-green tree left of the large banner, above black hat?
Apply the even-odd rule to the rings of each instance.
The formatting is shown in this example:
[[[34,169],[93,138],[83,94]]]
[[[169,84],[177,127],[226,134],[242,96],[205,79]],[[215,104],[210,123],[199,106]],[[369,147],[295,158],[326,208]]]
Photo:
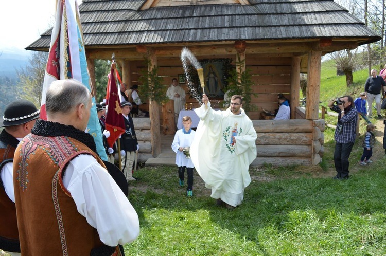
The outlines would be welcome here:
[[[48,59],[48,52],[34,51],[28,60],[29,65],[25,68],[17,69],[17,96],[29,100],[35,105],[40,106],[42,101],[42,88],[44,81],[45,68]]]

